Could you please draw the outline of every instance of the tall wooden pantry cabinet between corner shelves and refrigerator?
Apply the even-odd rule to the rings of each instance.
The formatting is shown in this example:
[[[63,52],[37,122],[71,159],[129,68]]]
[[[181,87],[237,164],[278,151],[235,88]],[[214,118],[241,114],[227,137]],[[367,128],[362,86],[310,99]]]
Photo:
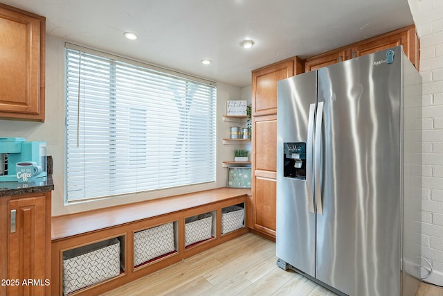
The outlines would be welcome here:
[[[248,227],[275,238],[277,179],[277,81],[302,73],[303,63],[288,58],[252,71],[252,196]]]

